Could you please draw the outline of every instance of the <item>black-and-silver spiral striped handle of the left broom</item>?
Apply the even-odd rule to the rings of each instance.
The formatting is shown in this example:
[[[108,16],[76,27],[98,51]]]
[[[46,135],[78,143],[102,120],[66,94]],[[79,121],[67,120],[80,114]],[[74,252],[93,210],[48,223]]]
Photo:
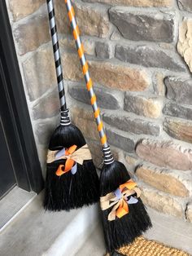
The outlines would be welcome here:
[[[63,69],[61,64],[61,57],[59,51],[59,39],[56,27],[55,20],[55,9],[53,0],[47,0],[47,9],[50,21],[50,34],[52,40],[52,46],[54,51],[54,59],[55,59],[55,71],[58,82],[58,90],[59,90],[59,101],[60,101],[60,113],[61,113],[61,126],[68,126],[71,124],[68,108],[66,104],[65,91],[64,91],[64,83],[63,83]]]

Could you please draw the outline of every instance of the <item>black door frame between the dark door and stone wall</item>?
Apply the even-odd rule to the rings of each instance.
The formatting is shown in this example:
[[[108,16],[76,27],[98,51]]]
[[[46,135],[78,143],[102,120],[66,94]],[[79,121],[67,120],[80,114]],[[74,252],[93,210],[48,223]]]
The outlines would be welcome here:
[[[44,187],[44,182],[5,0],[0,1],[0,24],[0,43],[2,45],[0,57],[9,80],[8,86],[4,90],[7,90],[16,146],[20,153],[20,163],[16,164],[21,164],[23,171],[22,175],[16,174],[16,179],[20,188],[38,193]]]

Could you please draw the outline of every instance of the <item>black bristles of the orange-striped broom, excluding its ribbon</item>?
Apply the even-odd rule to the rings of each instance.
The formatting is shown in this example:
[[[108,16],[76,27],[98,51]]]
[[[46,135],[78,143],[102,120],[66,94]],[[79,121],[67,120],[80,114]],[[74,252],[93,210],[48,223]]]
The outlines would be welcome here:
[[[130,179],[124,164],[114,161],[111,165],[103,166],[100,177],[100,195],[105,196],[113,192]],[[142,232],[146,232],[151,227],[151,219],[146,212],[146,208],[139,198],[137,204],[129,205],[129,214],[114,221],[108,221],[107,216],[111,209],[102,210],[103,231],[107,245],[107,251],[113,252],[121,246],[129,245]]]

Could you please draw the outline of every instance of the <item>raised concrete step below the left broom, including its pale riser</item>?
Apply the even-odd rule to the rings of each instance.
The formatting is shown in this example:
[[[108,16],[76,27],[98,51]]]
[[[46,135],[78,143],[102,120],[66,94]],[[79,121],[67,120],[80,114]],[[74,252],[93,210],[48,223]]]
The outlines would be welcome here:
[[[1,256],[62,256],[63,252],[71,256],[97,225],[96,205],[70,212],[45,212],[42,200],[43,192],[0,232]]]

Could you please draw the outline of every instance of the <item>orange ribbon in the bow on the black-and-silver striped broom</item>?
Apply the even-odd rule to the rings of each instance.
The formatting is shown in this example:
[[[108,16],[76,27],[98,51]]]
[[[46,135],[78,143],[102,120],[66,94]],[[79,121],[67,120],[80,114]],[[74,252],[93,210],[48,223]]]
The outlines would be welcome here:
[[[73,152],[76,151],[77,146],[72,145],[72,147],[67,148],[65,150],[65,156],[71,155]],[[59,165],[58,170],[56,171],[57,176],[61,176],[62,174],[66,174],[69,170],[72,170],[72,166],[74,165],[75,161],[71,158],[67,158],[65,165]],[[64,167],[64,170],[63,170]]]

